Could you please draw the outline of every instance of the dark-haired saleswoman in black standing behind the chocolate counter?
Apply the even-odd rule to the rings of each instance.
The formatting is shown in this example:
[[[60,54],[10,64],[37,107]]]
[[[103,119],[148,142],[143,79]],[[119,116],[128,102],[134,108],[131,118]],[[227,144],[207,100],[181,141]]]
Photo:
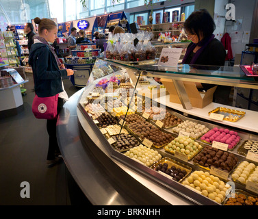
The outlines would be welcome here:
[[[184,23],[184,29],[192,42],[183,57],[183,64],[198,65],[193,67],[208,70],[218,70],[220,66],[224,66],[227,53],[223,44],[213,34],[216,25],[207,10],[192,12]],[[199,90],[208,90],[216,85],[196,83],[196,86]],[[230,92],[231,87],[218,86],[214,92],[214,102],[229,105]]]

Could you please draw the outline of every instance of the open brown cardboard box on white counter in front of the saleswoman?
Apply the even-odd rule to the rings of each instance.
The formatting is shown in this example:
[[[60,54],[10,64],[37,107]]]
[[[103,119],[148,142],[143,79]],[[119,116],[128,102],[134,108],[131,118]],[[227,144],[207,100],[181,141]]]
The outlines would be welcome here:
[[[181,104],[172,79],[161,79],[161,81],[170,94],[170,102]],[[207,92],[203,93],[198,91],[194,82],[183,81],[183,85],[185,86],[185,91],[188,94],[192,107],[196,108],[203,108],[209,105],[209,103],[212,102],[214,92],[217,88],[217,86],[214,86],[213,88],[207,90]]]

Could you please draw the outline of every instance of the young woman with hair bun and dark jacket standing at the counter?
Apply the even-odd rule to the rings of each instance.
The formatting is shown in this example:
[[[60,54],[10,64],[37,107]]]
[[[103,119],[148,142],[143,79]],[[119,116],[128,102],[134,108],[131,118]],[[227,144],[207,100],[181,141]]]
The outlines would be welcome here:
[[[68,95],[64,90],[62,77],[73,75],[73,70],[65,69],[61,64],[53,47],[57,38],[57,24],[49,18],[35,18],[38,24],[38,35],[34,36],[34,44],[29,53],[29,65],[33,69],[34,89],[39,97],[58,96],[57,113],[62,110],[64,101],[68,100]],[[48,167],[52,167],[60,160],[60,150],[56,137],[57,118],[47,120],[47,132],[49,134],[49,149],[47,153]]]

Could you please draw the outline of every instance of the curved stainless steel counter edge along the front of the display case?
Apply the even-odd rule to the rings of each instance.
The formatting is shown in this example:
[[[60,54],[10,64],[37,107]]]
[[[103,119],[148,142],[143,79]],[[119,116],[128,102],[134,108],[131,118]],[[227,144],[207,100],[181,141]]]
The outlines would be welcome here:
[[[192,205],[115,160],[110,151],[101,150],[106,147],[94,126],[84,119],[85,131],[78,120],[83,116],[77,108],[82,92],[83,88],[64,104],[57,120],[57,141],[70,174],[89,201],[93,205]]]

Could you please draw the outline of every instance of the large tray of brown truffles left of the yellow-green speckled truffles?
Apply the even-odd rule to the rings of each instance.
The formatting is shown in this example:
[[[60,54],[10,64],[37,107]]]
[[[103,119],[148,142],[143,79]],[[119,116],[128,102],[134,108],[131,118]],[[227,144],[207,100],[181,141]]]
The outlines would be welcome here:
[[[128,129],[140,138],[142,144],[159,149],[174,140],[171,133],[161,131],[149,122],[137,121],[128,125]]]

